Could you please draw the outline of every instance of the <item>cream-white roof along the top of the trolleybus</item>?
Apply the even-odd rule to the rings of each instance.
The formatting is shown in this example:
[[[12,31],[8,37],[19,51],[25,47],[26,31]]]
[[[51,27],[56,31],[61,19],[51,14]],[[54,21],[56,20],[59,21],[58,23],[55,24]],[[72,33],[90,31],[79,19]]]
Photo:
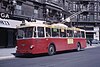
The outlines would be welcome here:
[[[66,26],[64,24],[61,24],[61,23],[47,25],[47,24],[37,23],[37,22],[25,22],[25,23],[21,23],[20,26],[17,26],[17,28],[33,27],[33,26],[37,26],[37,27],[49,27],[49,28],[58,28],[58,29],[67,29],[67,30],[76,30],[76,31],[85,31],[83,29],[76,28],[76,27],[68,27],[68,26]]]

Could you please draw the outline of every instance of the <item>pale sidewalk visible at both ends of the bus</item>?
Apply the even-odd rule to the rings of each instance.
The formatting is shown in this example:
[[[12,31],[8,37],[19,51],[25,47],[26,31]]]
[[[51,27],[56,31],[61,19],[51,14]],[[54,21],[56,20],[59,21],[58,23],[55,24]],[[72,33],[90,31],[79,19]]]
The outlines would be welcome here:
[[[86,49],[95,48],[95,47],[100,47],[100,44],[92,44],[92,46],[87,44]],[[15,53],[16,53],[16,48],[1,48],[0,60],[15,58],[15,55],[14,55]]]

